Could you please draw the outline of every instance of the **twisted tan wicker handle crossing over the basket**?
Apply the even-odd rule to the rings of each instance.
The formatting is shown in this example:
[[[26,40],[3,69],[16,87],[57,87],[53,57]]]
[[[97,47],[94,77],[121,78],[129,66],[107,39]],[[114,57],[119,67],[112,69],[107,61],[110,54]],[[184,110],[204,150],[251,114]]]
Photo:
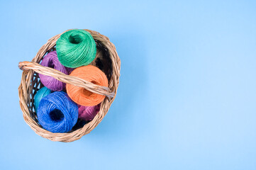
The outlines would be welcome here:
[[[114,92],[111,92],[110,89],[106,86],[99,86],[96,84],[91,83],[90,81],[86,81],[84,79],[81,79],[79,77],[72,77],[67,74],[64,74],[56,69],[52,69],[50,67],[43,67],[42,65],[36,63],[36,62],[19,62],[18,67],[23,70],[24,72],[26,70],[32,69],[33,71],[37,72],[38,74],[43,74],[45,76],[53,77],[59,81],[62,81],[66,84],[72,84],[74,86],[83,87],[84,89],[87,89],[88,91],[91,91],[94,94],[101,94],[108,99],[113,98],[115,95]]]

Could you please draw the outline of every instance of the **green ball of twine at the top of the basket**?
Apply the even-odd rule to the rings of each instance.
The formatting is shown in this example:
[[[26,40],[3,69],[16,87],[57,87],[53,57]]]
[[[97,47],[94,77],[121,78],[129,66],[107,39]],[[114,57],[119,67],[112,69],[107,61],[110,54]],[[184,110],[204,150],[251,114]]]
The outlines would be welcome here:
[[[57,57],[62,65],[77,68],[90,64],[96,57],[96,43],[86,30],[69,30],[56,42]]]

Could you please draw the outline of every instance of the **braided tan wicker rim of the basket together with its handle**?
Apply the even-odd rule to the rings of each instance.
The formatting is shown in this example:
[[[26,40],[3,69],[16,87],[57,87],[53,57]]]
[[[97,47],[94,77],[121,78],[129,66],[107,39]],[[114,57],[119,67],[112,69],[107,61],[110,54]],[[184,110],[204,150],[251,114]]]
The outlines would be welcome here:
[[[104,47],[106,47],[106,49],[109,52],[109,57],[112,62],[113,73],[110,81],[108,81],[107,88],[104,86],[92,84],[89,81],[84,81],[83,79],[80,79],[78,77],[72,77],[66,74],[63,75],[62,72],[59,72],[49,67],[45,68],[38,64],[40,60],[42,60],[42,58],[45,56],[45,54],[49,52],[53,47],[55,47],[56,41],[58,38],[60,38],[60,35],[62,35],[62,33],[50,38],[48,42],[46,42],[45,45],[43,45],[40,48],[40,50],[38,50],[37,55],[35,55],[31,62],[20,62],[18,65],[18,67],[23,69],[23,73],[21,76],[21,84],[18,87],[18,96],[20,99],[19,102],[21,106],[21,111],[23,112],[23,118],[26,121],[26,123],[30,126],[30,128],[33,129],[38,135],[52,141],[72,142],[74,140],[79,140],[84,135],[87,135],[89,132],[91,132],[91,130],[93,130],[94,128],[96,128],[97,125],[99,125],[101,120],[108,112],[111,103],[113,103],[113,100],[116,98],[116,91],[118,89],[121,69],[121,60],[116,52],[116,47],[115,45],[113,45],[112,42],[110,42],[110,40],[105,35],[101,35],[100,33],[94,30],[84,30],[87,30],[92,35],[94,40],[101,42],[101,44],[104,45]],[[65,32],[67,31],[68,30],[66,30]],[[107,98],[105,98],[104,101],[101,102],[101,108],[99,113],[94,117],[93,120],[84,125],[82,128],[67,133],[49,132],[48,130],[41,128],[38,122],[35,120],[35,118],[32,118],[30,109],[28,108],[29,105],[33,107],[33,101],[31,101],[31,98],[33,98],[34,84],[32,84],[31,82],[33,80],[33,75],[35,74],[35,72],[52,76],[55,79],[65,82],[67,84],[82,86],[91,92],[105,95],[107,96]]]

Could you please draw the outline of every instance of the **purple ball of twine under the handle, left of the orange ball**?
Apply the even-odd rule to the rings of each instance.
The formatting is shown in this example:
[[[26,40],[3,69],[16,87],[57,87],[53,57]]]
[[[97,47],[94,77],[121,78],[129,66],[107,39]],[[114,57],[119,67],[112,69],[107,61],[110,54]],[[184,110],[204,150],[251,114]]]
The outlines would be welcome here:
[[[56,51],[49,52],[47,55],[45,55],[41,62],[41,65],[57,69],[64,74],[68,74],[66,67],[60,64],[59,60],[57,59]],[[65,89],[65,83],[62,83],[62,81],[59,81],[50,76],[45,76],[43,74],[39,74],[39,77],[43,85],[45,85],[48,89],[52,91],[62,91],[63,89]]]

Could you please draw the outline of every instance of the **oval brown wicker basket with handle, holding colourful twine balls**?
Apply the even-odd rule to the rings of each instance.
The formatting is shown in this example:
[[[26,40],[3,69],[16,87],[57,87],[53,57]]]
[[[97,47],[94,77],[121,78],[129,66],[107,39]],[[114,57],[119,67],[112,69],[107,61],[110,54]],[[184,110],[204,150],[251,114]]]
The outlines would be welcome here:
[[[106,74],[106,77],[108,78],[108,87],[98,86],[96,84],[92,84],[89,81],[79,79],[78,77],[71,77],[57,71],[56,69],[43,67],[39,64],[43,60],[43,57],[48,54],[48,52],[55,50],[56,41],[62,34],[55,35],[54,37],[50,38],[50,40],[48,40],[48,42],[40,48],[32,62],[20,62],[18,64],[18,67],[23,70],[21,85],[18,87],[18,96],[20,98],[20,106],[23,112],[23,118],[31,129],[33,129],[41,137],[45,137],[48,140],[72,142],[74,140],[79,140],[84,135],[87,135],[101,122],[101,120],[108,112],[111,103],[116,97],[121,67],[121,61],[116,52],[116,47],[109,41],[106,36],[101,35],[94,30],[87,31],[94,38],[97,47],[96,57],[94,61],[91,62],[91,64],[99,67],[99,69],[101,69],[101,71]],[[96,114],[94,119],[90,122],[84,123],[82,120],[78,120],[77,125],[75,125],[71,131],[66,133],[53,133],[43,129],[38,123],[33,100],[37,91],[43,87],[38,74],[54,77],[55,79],[66,84],[80,86],[93,93],[106,96],[104,101],[101,102],[99,113]]]

